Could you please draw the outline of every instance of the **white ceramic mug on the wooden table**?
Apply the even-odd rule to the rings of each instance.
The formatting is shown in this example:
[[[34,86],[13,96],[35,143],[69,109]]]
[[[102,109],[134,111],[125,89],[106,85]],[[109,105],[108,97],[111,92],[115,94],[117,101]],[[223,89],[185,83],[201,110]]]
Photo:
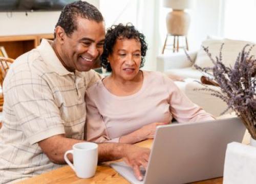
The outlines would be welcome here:
[[[67,155],[73,154],[73,163]],[[98,163],[98,145],[95,143],[77,143],[73,150],[66,151],[64,159],[75,171],[79,178],[90,178],[94,176]]]

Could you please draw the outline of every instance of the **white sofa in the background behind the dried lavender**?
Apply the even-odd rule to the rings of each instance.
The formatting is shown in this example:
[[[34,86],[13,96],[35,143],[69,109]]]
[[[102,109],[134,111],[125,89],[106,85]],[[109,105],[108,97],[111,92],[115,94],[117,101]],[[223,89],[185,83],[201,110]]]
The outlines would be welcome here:
[[[236,58],[242,48],[246,43],[251,44],[251,42],[240,41],[240,40],[230,40],[230,39],[222,39],[222,40],[214,40],[207,39],[203,41],[202,45],[208,47],[209,52],[213,57],[219,56],[219,51],[221,44],[224,42],[224,47],[222,51],[223,55],[223,63],[225,65],[233,65],[236,61]],[[256,56],[256,48],[252,49],[251,52]],[[203,75],[200,71],[197,71],[194,67],[194,63],[199,66],[207,67],[212,66],[212,62],[203,51],[203,49],[199,51],[188,52],[190,58],[193,62],[190,62],[187,59],[185,53],[172,53],[165,54],[157,57],[157,71],[163,72],[165,74],[173,74],[184,77],[185,82],[176,81],[176,84],[179,88],[188,96],[188,98],[194,103],[201,106],[207,112],[211,113],[215,117],[218,117],[220,113],[222,113],[227,105],[225,102],[220,100],[217,97],[211,96],[209,92],[204,90],[195,90],[199,88],[203,88],[201,84],[195,81],[200,81],[201,76]],[[221,91],[216,86],[207,85],[208,87]],[[227,111],[228,113],[230,111]]]

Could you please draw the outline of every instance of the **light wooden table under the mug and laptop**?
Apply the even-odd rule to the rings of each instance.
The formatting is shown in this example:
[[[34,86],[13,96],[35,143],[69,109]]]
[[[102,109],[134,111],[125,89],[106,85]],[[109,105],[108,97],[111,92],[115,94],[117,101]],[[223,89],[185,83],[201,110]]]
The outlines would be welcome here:
[[[138,146],[150,148],[153,143],[153,140],[143,141],[138,143]],[[205,181],[194,182],[196,184],[221,184],[223,181],[222,178],[208,179]],[[94,177],[89,179],[80,179],[76,177],[74,171],[69,166],[64,166],[62,168],[40,174],[38,176],[32,177],[20,181],[19,183],[34,184],[34,183],[130,183],[122,176],[120,176],[114,169],[109,167],[109,165],[102,164],[98,165],[96,174]]]

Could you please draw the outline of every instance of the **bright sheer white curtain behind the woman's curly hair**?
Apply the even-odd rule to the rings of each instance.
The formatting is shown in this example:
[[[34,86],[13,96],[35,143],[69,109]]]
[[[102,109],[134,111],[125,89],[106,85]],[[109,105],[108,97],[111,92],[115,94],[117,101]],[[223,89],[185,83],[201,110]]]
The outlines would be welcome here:
[[[131,22],[142,32],[148,43],[144,64],[145,70],[156,70],[156,57],[159,50],[159,4],[155,0],[100,0],[100,11],[106,28],[119,23]]]

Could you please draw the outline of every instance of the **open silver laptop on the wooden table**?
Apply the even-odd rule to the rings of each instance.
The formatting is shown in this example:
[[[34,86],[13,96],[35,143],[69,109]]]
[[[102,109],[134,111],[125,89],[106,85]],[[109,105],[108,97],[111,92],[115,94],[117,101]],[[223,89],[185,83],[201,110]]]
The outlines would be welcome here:
[[[242,142],[239,118],[158,126],[143,181],[124,162],[111,164],[131,183],[188,183],[223,176],[227,144]]]

